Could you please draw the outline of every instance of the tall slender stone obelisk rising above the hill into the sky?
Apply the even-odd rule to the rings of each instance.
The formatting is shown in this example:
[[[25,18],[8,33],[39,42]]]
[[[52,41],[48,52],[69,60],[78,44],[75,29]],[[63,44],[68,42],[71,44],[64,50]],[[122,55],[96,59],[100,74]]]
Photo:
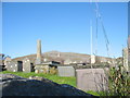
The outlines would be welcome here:
[[[36,64],[41,64],[41,40],[37,40],[37,59]]]

